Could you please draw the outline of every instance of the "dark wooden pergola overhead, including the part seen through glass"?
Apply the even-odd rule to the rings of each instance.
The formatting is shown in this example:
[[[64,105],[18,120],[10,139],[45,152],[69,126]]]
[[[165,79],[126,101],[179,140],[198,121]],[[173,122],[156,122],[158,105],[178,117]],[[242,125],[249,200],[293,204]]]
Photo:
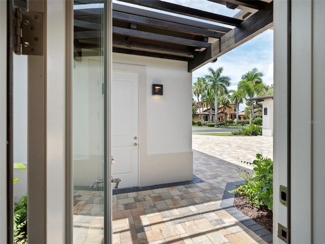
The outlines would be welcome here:
[[[159,0],[113,2],[113,52],[183,60],[192,72],[273,26],[273,0],[201,0],[239,9],[233,17]],[[74,57],[102,55],[103,8],[75,0]],[[102,1],[103,3],[103,1]],[[139,7],[141,6],[141,7]],[[77,6],[78,7],[78,6]]]

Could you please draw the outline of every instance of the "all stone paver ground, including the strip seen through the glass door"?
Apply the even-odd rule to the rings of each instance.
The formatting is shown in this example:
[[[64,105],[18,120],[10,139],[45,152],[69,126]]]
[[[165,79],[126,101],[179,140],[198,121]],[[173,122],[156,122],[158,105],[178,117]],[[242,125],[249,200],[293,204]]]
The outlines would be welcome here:
[[[242,180],[238,158],[273,158],[272,140],[193,135],[192,181],[113,195],[113,243],[272,243],[270,232],[231,206],[226,191]],[[102,194],[75,192],[76,243],[104,243]]]

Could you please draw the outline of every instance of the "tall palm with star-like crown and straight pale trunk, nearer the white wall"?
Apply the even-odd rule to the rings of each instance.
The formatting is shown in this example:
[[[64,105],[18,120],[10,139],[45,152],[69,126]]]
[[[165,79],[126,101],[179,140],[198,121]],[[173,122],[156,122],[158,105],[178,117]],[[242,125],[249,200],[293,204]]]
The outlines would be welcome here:
[[[209,74],[205,75],[207,81],[211,84],[211,88],[214,90],[214,106],[215,106],[215,125],[214,127],[218,127],[218,94],[220,92],[227,92],[228,86],[230,86],[230,77],[229,76],[221,76],[223,71],[222,67],[214,70],[212,67],[208,68]]]

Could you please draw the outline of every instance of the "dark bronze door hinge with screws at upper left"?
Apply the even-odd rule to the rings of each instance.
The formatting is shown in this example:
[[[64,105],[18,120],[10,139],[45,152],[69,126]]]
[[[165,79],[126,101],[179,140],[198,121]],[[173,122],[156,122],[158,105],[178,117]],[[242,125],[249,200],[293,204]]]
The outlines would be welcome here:
[[[43,55],[43,13],[16,9],[14,52]]]

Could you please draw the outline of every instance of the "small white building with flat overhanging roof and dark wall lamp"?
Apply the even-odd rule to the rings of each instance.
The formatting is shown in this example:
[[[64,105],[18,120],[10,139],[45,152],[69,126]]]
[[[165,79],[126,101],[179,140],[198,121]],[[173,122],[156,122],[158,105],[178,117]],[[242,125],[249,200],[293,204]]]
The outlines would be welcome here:
[[[257,98],[250,98],[248,100],[263,103],[262,135],[263,136],[273,136],[273,95],[257,97]]]

